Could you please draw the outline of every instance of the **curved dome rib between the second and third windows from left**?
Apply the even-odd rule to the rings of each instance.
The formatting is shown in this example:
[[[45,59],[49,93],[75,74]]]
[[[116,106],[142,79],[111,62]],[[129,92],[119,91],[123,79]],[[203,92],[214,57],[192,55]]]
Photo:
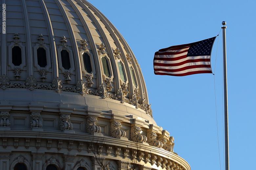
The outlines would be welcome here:
[[[56,44],[54,41],[54,34],[53,34],[53,26],[52,26],[51,19],[50,19],[50,16],[49,16],[49,13],[48,13],[48,10],[46,8],[44,1],[43,0],[39,0],[39,1],[43,8],[43,12],[44,12],[45,19],[46,19],[46,24],[48,27],[49,39],[50,39],[49,43],[51,45],[50,50],[52,53],[52,56],[51,56],[52,65],[51,66],[53,67],[53,78],[56,78],[56,77],[59,77],[59,68],[58,68]]]

